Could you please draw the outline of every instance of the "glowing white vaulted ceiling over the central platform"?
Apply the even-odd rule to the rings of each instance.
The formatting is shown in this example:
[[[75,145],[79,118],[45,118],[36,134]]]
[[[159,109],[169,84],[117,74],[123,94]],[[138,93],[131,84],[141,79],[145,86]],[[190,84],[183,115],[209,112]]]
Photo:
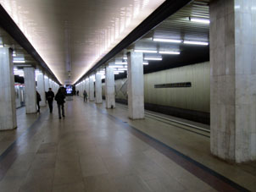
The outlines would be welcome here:
[[[0,0],[0,3],[58,80],[73,84],[164,0]]]

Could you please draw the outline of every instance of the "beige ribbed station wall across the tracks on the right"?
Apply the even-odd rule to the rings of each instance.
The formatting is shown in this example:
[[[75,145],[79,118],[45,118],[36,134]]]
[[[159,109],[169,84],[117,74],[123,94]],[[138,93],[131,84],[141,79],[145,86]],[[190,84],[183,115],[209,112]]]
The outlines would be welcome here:
[[[209,62],[144,74],[145,108],[200,123],[209,123]],[[191,87],[154,85],[190,82]],[[116,101],[127,103],[127,79],[115,80]],[[103,91],[104,92],[104,91]]]

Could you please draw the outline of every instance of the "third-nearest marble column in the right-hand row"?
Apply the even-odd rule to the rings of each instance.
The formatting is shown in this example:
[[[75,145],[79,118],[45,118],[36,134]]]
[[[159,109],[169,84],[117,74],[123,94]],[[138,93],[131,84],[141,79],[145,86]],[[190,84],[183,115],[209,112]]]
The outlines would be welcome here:
[[[114,69],[109,67],[106,67],[105,97],[106,97],[106,108],[114,108],[115,107]]]

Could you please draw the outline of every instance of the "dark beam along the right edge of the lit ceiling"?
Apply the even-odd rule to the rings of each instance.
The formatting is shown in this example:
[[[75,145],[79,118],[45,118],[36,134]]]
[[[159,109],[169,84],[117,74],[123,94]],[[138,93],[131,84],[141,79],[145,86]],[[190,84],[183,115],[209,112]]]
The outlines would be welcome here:
[[[192,0],[166,0],[162,5],[159,6],[152,14],[150,14],[147,19],[142,21],[131,33],[125,37],[120,43],[114,47],[106,56],[104,56],[99,62],[97,62],[92,69],[90,69],[86,74],[84,74],[80,80],[84,79],[87,75],[92,74],[92,72],[103,64],[107,63],[111,58],[113,58],[117,53],[121,52],[123,49],[131,45],[132,42],[138,40],[149,30],[159,25],[164,19],[170,17],[170,15],[175,14],[178,10],[183,8],[187,3],[192,2]]]

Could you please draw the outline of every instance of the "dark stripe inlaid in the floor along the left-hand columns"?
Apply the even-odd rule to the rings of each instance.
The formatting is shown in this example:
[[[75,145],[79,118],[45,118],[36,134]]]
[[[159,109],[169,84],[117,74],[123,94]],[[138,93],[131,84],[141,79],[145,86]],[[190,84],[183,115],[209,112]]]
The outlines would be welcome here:
[[[25,133],[21,134],[17,140],[14,141],[0,156],[0,181],[3,179],[4,175],[8,172],[8,169],[13,165],[19,153],[25,148],[31,140],[31,138],[36,134],[38,129],[42,128],[42,122],[47,117],[48,110],[43,112],[39,118],[36,119],[34,123],[31,124],[29,129],[26,129]],[[1,190],[1,189],[0,189]]]

